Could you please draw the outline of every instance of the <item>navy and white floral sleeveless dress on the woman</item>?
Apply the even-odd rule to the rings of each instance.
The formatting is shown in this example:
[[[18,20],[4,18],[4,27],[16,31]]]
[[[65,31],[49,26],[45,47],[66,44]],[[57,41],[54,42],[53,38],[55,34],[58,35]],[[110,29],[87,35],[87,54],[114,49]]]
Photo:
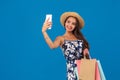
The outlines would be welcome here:
[[[67,80],[78,80],[75,68],[75,60],[83,57],[83,40],[64,40],[61,49],[64,53],[67,65]]]

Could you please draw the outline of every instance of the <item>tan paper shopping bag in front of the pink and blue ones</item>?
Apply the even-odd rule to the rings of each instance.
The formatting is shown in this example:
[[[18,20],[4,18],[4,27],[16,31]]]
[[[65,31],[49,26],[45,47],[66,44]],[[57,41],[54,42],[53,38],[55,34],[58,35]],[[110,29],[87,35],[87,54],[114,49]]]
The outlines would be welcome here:
[[[96,59],[76,60],[76,64],[79,80],[95,80]]]

